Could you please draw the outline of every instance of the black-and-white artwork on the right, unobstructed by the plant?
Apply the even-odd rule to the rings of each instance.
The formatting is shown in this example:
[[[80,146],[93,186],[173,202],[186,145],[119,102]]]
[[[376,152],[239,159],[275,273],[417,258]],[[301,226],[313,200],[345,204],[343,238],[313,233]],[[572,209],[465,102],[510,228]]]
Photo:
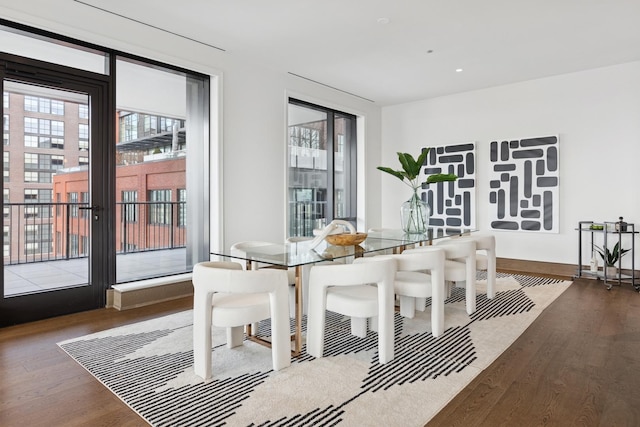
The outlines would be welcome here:
[[[558,233],[558,137],[492,141],[490,228]]]

